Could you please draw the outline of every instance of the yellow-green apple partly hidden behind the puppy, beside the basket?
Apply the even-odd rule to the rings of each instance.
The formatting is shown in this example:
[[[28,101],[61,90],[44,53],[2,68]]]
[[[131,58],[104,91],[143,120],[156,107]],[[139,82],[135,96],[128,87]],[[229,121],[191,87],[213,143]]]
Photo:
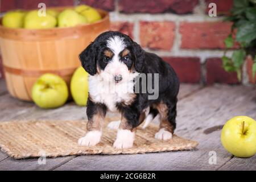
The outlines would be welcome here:
[[[88,73],[84,70],[84,68],[79,67],[76,69],[75,73],[71,78],[71,94],[73,100],[79,106],[86,106],[86,102],[88,99]]]

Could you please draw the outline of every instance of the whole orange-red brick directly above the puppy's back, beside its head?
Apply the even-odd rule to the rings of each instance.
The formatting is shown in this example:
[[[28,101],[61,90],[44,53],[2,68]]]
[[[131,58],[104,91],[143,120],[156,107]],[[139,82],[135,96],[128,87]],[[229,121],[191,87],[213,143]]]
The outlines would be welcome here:
[[[141,22],[141,45],[151,49],[170,50],[174,42],[174,31],[174,22]]]

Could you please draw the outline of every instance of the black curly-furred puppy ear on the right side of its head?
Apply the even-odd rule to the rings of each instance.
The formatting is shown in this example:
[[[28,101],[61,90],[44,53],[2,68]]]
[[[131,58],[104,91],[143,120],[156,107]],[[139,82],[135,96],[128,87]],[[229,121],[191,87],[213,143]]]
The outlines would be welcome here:
[[[141,48],[141,46],[139,46],[139,44],[137,44],[136,42],[133,43],[133,52],[135,55],[135,63],[134,63],[135,71],[142,72],[144,68],[145,52]]]

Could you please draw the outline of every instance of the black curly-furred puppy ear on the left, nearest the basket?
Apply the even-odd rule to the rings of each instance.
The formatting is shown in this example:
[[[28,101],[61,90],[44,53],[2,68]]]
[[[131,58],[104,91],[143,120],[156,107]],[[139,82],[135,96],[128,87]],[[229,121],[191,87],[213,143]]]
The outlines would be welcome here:
[[[96,49],[93,42],[80,53],[79,59],[86,72],[90,75],[96,74]]]

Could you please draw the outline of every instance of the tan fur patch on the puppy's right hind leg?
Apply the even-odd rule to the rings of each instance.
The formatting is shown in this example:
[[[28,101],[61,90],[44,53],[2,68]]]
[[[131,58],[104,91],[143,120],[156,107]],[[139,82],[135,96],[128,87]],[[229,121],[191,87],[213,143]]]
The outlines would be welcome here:
[[[174,133],[174,126],[168,121],[168,107],[166,104],[163,104],[161,102],[158,105],[153,105],[155,109],[158,110],[160,114],[160,129],[166,129],[167,131],[170,131],[172,134]]]

